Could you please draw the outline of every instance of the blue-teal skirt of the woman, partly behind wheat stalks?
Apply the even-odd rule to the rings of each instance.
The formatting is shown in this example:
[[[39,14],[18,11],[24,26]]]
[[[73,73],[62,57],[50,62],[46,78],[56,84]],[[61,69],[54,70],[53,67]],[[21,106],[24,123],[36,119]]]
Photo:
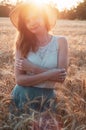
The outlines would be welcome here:
[[[46,109],[56,111],[56,95],[54,89],[25,87],[16,85],[12,90],[12,101],[10,111],[14,113],[14,104],[20,112],[34,109],[43,112]],[[27,108],[27,109],[26,109]]]

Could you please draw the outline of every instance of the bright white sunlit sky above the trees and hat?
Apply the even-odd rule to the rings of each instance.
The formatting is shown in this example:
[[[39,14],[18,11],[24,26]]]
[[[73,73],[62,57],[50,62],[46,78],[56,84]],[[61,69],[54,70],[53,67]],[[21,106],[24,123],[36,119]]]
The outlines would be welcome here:
[[[10,0],[12,3],[16,3],[17,0]],[[21,1],[21,0],[20,0]],[[59,10],[70,9],[73,6],[76,6],[79,2],[83,0],[22,0],[24,2],[34,2],[37,5],[43,5],[43,3],[54,4]]]

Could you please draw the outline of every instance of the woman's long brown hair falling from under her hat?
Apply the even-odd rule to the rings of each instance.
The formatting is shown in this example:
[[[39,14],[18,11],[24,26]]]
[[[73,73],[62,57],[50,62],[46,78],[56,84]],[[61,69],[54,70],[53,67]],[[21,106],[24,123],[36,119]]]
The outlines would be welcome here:
[[[37,50],[37,38],[35,34],[27,29],[25,24],[23,14],[27,11],[29,11],[28,7],[25,9],[25,12],[20,13],[18,21],[19,34],[16,41],[16,49],[20,51],[22,57],[26,57],[30,51],[35,52]],[[49,31],[49,24],[46,13],[42,11],[42,14],[47,31]]]

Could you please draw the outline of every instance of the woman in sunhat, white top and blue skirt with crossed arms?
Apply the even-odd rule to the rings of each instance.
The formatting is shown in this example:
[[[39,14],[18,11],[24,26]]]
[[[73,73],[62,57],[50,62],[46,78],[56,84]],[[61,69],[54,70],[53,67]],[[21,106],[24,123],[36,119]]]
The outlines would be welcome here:
[[[67,40],[49,31],[56,23],[56,11],[49,5],[18,5],[10,19],[19,31],[15,52],[16,86],[13,101],[20,111],[29,108],[44,111],[55,99],[55,83],[63,83],[67,72]],[[37,103],[30,104],[30,100]],[[43,105],[41,101],[43,100]],[[55,110],[55,102],[51,106]]]

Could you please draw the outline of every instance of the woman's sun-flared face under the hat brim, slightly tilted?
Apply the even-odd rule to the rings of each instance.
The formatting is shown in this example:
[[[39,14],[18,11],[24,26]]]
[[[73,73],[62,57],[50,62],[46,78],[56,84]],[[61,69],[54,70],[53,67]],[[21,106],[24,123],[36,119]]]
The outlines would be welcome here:
[[[32,33],[40,33],[42,29],[46,29],[42,13],[38,11],[32,10],[27,13],[27,16],[25,17],[25,24],[27,29],[29,29]]]

